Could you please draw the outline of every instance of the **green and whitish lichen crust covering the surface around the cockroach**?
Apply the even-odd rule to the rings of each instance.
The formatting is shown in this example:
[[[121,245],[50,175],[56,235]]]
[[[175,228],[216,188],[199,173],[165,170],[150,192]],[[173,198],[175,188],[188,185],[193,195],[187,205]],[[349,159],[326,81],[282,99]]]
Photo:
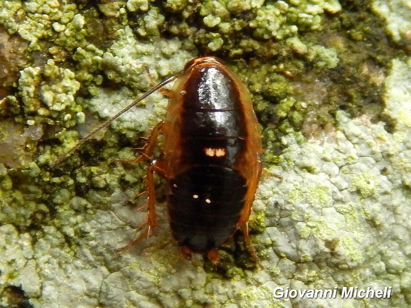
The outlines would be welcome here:
[[[0,0],[0,307],[408,307],[409,16],[401,0]],[[146,165],[112,159],[135,157],[160,93],[50,166],[206,54],[246,83],[263,130],[261,268],[241,239],[217,266],[185,260],[159,179],[160,226],[115,252],[146,218]],[[393,291],[276,299],[277,286]]]

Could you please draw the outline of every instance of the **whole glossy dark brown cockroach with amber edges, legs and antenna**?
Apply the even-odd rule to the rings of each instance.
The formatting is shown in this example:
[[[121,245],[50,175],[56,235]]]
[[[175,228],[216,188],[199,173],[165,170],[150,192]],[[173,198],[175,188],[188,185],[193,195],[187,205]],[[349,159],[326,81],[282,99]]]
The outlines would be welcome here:
[[[164,85],[176,80],[172,90]],[[261,173],[261,135],[250,94],[240,79],[214,56],[197,57],[139,99],[91,131],[53,165],[156,90],[169,97],[167,114],[153,129],[142,155],[147,168],[144,232],[118,250],[148,237],[156,223],[154,174],[167,182],[167,209],[174,238],[185,256],[205,254],[218,262],[218,249],[240,229],[252,248],[248,219]],[[153,159],[159,135],[162,156]]]

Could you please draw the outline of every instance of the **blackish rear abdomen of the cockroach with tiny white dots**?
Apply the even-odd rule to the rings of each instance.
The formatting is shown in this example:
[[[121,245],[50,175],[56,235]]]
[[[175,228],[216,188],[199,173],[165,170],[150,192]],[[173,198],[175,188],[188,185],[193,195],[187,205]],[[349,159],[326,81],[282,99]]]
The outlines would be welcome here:
[[[237,171],[196,166],[170,184],[170,225],[181,245],[207,252],[233,234],[247,192],[246,180]]]

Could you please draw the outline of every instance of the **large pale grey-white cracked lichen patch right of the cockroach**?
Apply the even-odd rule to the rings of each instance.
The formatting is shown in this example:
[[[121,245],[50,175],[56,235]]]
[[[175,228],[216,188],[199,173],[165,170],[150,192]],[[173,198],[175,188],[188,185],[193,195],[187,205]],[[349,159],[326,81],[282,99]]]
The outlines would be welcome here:
[[[401,108],[391,104],[406,101],[410,85],[406,77],[409,70],[404,71],[404,65],[394,65],[386,80],[387,93],[403,89],[395,91],[399,96],[394,99],[392,95],[385,97],[395,114],[401,113]],[[402,117],[407,119],[406,113]],[[269,254],[271,262],[278,262],[278,256],[291,260],[282,267],[285,276],[295,271],[293,262],[325,265],[309,280],[307,274],[301,276],[304,288],[317,287],[324,277],[327,285],[392,286],[397,296],[390,304],[378,306],[396,302],[405,307],[397,275],[408,273],[411,266],[407,258],[411,224],[405,219],[411,215],[406,188],[411,175],[409,168],[399,169],[398,164],[411,162],[405,149],[411,130],[399,121],[399,130],[390,133],[384,123],[371,123],[365,116],[351,119],[343,111],[338,112],[337,119],[336,131],[302,146],[289,136],[285,141],[288,150],[283,154],[287,162],[284,171],[273,170],[284,180],[269,180],[276,186],[272,197],[265,190],[267,183],[260,185],[264,198],[271,203],[265,208],[269,221],[266,232],[275,252]],[[338,269],[350,274],[334,275]],[[289,283],[295,283],[295,279]],[[347,303],[340,300],[330,300],[328,305]],[[354,302],[365,307],[371,300]],[[314,303],[321,304],[321,300],[311,301]]]

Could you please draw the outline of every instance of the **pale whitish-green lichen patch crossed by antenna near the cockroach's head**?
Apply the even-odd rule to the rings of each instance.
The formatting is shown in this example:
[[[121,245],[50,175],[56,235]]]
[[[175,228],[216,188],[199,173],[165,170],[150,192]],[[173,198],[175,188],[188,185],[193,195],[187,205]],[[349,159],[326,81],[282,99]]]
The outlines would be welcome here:
[[[145,67],[151,68],[150,74],[154,80],[161,81],[165,76],[181,70],[184,64],[193,57],[192,54],[180,50],[182,43],[177,40],[141,43],[136,40],[129,27],[119,30],[118,34],[118,40],[102,54],[101,59],[97,56],[96,63],[101,62],[99,65],[105,68],[110,80],[116,83],[122,82],[128,88],[110,91],[94,85],[90,86],[89,90],[93,98],[87,103],[91,110],[97,111],[103,119],[111,117],[151,87],[152,80],[147,75]],[[83,57],[84,61],[89,59],[86,50],[81,54],[76,54],[78,60]],[[166,104],[167,100],[160,93],[154,93],[140,104],[145,106],[144,109],[133,108],[113,125],[121,130],[150,130],[155,122],[164,116]]]

